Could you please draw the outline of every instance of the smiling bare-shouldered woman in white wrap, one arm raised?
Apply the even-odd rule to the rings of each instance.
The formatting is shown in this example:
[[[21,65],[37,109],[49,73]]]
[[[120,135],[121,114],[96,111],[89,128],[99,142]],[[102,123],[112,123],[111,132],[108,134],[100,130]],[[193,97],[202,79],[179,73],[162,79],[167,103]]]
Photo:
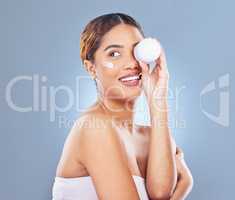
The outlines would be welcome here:
[[[143,38],[140,25],[122,13],[99,16],[85,27],[81,59],[95,80],[98,97],[66,139],[54,200],[181,200],[191,191],[192,175],[168,127],[164,51],[150,73],[148,65],[133,56]],[[151,126],[133,122],[142,90]]]

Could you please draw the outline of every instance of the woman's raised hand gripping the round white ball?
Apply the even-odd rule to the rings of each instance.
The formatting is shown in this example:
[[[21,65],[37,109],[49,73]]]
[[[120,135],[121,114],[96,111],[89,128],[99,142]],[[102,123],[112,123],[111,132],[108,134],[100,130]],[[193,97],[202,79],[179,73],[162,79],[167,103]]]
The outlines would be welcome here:
[[[167,96],[169,72],[166,64],[164,50],[161,48],[161,54],[156,60],[156,65],[152,72],[146,63],[139,62],[142,68],[142,86],[149,103],[162,101]]]

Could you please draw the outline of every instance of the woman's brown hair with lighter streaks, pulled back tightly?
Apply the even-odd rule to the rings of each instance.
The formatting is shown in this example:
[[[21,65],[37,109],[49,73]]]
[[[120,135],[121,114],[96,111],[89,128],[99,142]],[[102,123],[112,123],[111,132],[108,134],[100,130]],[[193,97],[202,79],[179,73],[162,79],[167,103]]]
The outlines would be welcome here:
[[[105,33],[110,31],[118,24],[128,24],[136,27],[144,36],[140,24],[131,16],[124,13],[110,13],[98,16],[91,20],[83,30],[80,38],[80,57],[82,62],[87,60],[94,60],[94,54],[99,48],[101,40]]]

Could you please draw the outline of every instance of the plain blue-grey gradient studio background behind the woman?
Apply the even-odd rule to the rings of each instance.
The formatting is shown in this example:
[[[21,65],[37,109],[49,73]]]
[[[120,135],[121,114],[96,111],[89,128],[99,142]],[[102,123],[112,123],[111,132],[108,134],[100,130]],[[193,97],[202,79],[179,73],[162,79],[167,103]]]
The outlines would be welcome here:
[[[80,108],[90,105],[96,97],[94,83],[76,85],[77,76],[87,75],[79,37],[89,20],[109,12],[132,15],[147,36],[158,37],[167,54],[170,87],[186,87],[178,104],[185,127],[172,127],[172,133],[194,177],[187,199],[234,199],[234,8],[232,0],[1,1],[0,199],[51,199],[56,165],[71,128],[60,126],[59,117],[71,122],[79,116],[75,106],[57,112],[53,122],[50,106],[47,111],[16,112],[5,99],[7,84],[16,76],[46,76],[40,86],[65,85],[79,91]],[[224,74],[230,76],[228,127],[208,119],[199,103],[202,89]],[[219,112],[219,92],[204,98],[210,113]],[[12,96],[18,105],[31,105],[32,82],[18,84]],[[56,103],[66,105],[68,96],[58,93]]]

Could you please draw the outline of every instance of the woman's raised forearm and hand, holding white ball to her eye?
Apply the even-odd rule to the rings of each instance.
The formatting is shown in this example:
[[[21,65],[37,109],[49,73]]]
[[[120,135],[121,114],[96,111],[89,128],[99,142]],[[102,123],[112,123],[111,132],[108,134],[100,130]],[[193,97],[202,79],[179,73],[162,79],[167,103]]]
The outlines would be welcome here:
[[[169,73],[163,50],[152,72],[146,64],[140,62],[140,66],[151,118],[146,186],[151,199],[169,199],[176,186],[177,171],[175,148],[168,127]]]

